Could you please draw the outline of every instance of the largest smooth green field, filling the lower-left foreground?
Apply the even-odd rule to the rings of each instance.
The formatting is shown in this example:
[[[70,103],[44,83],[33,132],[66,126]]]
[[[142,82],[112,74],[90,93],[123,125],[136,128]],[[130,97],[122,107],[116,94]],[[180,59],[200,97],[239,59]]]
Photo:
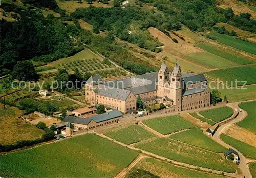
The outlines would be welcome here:
[[[113,177],[138,153],[93,134],[0,156],[2,177]]]

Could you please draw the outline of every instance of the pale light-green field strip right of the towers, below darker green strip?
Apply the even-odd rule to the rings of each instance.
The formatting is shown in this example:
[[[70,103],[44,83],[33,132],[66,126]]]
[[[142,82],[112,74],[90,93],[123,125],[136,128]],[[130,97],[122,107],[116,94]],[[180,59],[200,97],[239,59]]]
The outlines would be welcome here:
[[[196,63],[208,66],[208,68],[228,68],[230,66],[239,65],[239,63],[208,52],[197,52],[188,55],[192,57]]]

